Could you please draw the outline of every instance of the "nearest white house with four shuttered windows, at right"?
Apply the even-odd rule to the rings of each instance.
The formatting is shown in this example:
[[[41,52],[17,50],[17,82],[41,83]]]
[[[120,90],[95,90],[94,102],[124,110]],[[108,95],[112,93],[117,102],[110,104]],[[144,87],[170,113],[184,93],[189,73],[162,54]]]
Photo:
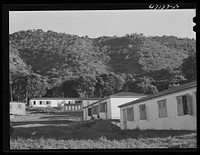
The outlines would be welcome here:
[[[196,130],[196,81],[119,108],[121,129]]]

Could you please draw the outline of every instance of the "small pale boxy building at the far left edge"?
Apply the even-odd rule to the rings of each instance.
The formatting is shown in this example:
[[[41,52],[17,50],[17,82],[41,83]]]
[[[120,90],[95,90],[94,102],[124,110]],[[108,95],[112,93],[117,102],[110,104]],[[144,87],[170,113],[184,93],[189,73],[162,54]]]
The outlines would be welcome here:
[[[10,102],[10,114],[12,114],[12,115],[26,115],[26,103]]]

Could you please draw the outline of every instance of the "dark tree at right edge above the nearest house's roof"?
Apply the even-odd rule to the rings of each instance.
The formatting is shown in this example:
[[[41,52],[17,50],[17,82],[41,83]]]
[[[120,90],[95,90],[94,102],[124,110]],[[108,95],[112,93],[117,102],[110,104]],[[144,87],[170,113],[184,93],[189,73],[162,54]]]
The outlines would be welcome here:
[[[188,81],[196,80],[196,53],[193,53],[188,58],[183,59],[181,71]]]

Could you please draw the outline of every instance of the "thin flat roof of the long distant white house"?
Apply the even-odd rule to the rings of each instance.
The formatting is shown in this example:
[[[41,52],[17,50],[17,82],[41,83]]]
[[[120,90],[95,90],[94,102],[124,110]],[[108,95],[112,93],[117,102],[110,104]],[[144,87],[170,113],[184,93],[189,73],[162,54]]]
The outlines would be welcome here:
[[[61,98],[61,97],[41,97],[31,98],[30,100],[100,100],[101,98]]]

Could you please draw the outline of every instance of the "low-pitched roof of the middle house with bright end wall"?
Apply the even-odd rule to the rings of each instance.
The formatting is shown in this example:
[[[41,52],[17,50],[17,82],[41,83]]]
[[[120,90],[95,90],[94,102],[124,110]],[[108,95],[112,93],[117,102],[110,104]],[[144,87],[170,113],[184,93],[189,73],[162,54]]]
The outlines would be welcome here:
[[[132,93],[132,92],[120,92],[120,93],[117,93],[117,94],[110,95],[108,97],[104,97],[99,101],[96,101],[96,102],[94,102],[94,103],[92,103],[92,104],[90,104],[88,106],[83,107],[83,109],[85,109],[87,107],[90,107],[90,106],[92,106],[94,104],[97,104],[97,103],[99,103],[101,101],[104,101],[106,99],[109,99],[109,98],[131,98],[131,97],[142,97],[142,96],[145,97],[147,95],[139,94],[139,93]]]

